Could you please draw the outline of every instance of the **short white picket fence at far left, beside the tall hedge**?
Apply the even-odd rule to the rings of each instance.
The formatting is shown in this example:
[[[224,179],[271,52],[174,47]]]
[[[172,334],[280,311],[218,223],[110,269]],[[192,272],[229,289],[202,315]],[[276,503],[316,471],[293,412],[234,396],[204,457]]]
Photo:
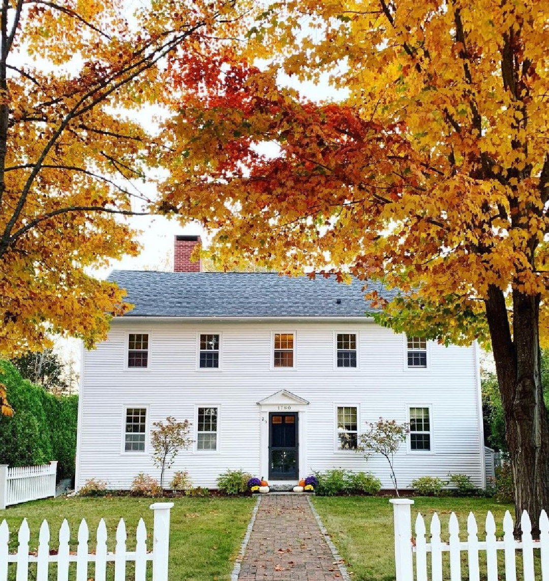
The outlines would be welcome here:
[[[0,464],[0,510],[10,504],[55,496],[56,475],[57,461],[20,468]]]

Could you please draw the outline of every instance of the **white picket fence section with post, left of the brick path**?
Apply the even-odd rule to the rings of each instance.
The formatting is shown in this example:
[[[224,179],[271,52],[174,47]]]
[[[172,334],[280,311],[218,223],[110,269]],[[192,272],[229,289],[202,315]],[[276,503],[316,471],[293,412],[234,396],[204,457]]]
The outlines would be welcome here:
[[[50,533],[47,521],[42,522],[38,537],[38,551],[29,551],[30,529],[27,519],[23,520],[19,528],[19,547],[17,553],[10,553],[8,549],[8,523],[0,525],[0,581],[8,580],[9,564],[15,564],[16,581],[48,581],[49,566],[56,564],[57,581],[68,581],[71,563],[76,564],[76,581],[105,581],[107,577],[107,563],[114,563],[114,581],[125,581],[126,564],[135,563],[135,581],[146,581],[147,563],[152,561],[152,581],[167,581],[168,579],[168,548],[170,544],[170,509],[174,503],[155,503],[150,508],[154,511],[152,551],[147,551],[147,530],[143,519],[137,526],[135,551],[127,551],[126,526],[124,519],[120,519],[116,529],[116,547],[114,552],[107,552],[107,528],[101,519],[95,535],[95,549],[90,551],[88,525],[82,519],[78,527],[78,547],[76,552],[70,550],[70,529],[66,519],[59,530],[59,544],[56,549],[50,549]],[[52,554],[56,553],[56,554]],[[34,566],[34,564],[36,564]],[[93,566],[90,566],[93,564]],[[93,569],[91,575],[89,569]]]

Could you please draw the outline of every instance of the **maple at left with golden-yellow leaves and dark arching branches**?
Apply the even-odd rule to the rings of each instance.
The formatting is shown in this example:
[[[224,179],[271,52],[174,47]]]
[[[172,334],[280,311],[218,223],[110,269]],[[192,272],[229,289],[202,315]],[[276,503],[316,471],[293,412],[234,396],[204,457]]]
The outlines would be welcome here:
[[[0,356],[48,347],[55,333],[92,346],[129,305],[86,269],[137,253],[121,218],[149,212],[139,182],[163,147],[142,107],[181,98],[174,63],[219,51],[247,2],[0,6]]]

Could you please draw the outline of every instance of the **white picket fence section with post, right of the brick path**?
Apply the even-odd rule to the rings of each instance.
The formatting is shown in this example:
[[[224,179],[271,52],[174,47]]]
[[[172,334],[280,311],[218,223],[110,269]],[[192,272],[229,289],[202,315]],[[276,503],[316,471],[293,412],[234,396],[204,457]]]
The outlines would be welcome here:
[[[479,540],[479,527],[475,516],[469,513],[467,519],[467,541],[460,539],[460,525],[453,512],[448,523],[449,542],[440,539],[440,519],[433,515],[430,522],[430,543],[426,539],[425,520],[421,514],[415,520],[415,534],[411,526],[411,505],[413,500],[398,498],[390,501],[394,512],[394,554],[396,564],[396,581],[442,581],[443,554],[448,553],[450,565],[450,581],[461,581],[461,554],[467,553],[467,578],[469,581],[479,581],[479,553],[485,552],[482,562],[486,562],[487,581],[497,581],[498,551],[504,551],[505,581],[516,581],[517,566],[521,566],[523,581],[534,581],[534,554],[539,555],[541,579],[549,579],[549,518],[545,511],[541,512],[540,540],[532,540],[532,523],[525,511],[521,518],[522,539],[515,540],[513,534],[513,519],[509,511],[503,519],[503,540],[496,538],[496,522],[489,511],[484,523],[485,540]],[[517,551],[522,557],[517,559]],[[539,553],[538,553],[539,551]],[[427,555],[430,553],[430,567]],[[415,555],[415,560],[414,560]],[[414,562],[415,561],[415,562]],[[414,576],[415,569],[415,576]],[[430,576],[428,575],[430,572]]]

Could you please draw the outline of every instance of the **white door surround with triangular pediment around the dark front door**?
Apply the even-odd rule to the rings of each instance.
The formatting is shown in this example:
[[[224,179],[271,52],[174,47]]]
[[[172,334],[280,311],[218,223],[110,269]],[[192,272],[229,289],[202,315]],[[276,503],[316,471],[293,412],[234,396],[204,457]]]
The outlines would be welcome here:
[[[281,389],[280,391],[273,393],[272,396],[265,397],[265,399],[258,401],[257,405],[260,407],[260,417],[261,417],[261,456],[260,456],[260,468],[261,474],[264,478],[268,478],[269,474],[269,412],[297,412],[297,442],[298,442],[298,455],[299,455],[299,465],[298,465],[298,477],[297,480],[305,478],[307,474],[306,471],[306,418],[307,418],[307,406],[308,401],[304,400],[302,397],[296,396],[295,394]],[[271,484],[288,484],[290,481],[284,480],[282,482],[271,482]],[[297,483],[297,481],[296,481]]]

